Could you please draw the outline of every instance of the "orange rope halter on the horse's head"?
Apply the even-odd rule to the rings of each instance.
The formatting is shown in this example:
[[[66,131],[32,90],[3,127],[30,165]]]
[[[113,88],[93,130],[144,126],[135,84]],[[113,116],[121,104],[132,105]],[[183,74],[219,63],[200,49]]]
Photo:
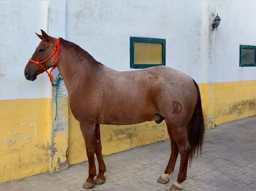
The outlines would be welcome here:
[[[58,58],[58,53],[59,53],[59,44],[60,44],[60,42],[59,42],[59,39],[57,39],[57,42],[54,44],[54,51],[53,51],[53,53],[46,59],[46,60],[44,60],[44,61],[42,61],[42,62],[35,62],[35,61],[33,61],[32,59],[29,59],[29,61],[30,62],[32,62],[32,63],[34,63],[34,64],[36,64],[36,65],[39,65],[40,67],[42,67],[42,69],[48,74],[48,77],[49,77],[49,79],[50,79],[50,82],[51,82],[51,85],[52,86],[54,86],[53,85],[53,83],[52,83],[52,71],[57,67],[57,65],[58,65],[58,62],[59,62],[59,58]],[[47,60],[49,60],[53,55],[54,55],[54,53],[56,53],[55,54],[55,56],[53,57],[53,59],[52,59],[52,62],[54,63],[55,62],[55,59],[57,58],[57,64],[51,69],[51,71],[50,72],[48,72],[41,64],[42,63],[44,63],[44,62],[46,62]]]

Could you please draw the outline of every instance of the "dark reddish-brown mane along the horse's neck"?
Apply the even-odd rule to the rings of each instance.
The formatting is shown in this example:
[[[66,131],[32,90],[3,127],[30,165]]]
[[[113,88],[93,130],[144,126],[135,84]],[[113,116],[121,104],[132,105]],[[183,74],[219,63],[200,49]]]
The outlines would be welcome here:
[[[73,48],[78,54],[83,54],[83,56],[85,57],[85,59],[88,61],[88,63],[92,63],[92,64],[99,64],[99,65],[103,65],[100,62],[96,61],[92,55],[90,55],[87,51],[85,51],[84,49],[82,49],[80,46],[78,46],[77,44],[67,41],[63,38],[59,38],[60,44],[62,44],[63,46],[67,46],[69,48]]]

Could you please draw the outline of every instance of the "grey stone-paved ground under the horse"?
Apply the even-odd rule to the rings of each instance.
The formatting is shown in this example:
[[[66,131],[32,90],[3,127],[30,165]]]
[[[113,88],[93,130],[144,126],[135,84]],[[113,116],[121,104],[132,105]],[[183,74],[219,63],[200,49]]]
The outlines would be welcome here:
[[[93,190],[168,190],[177,178],[179,158],[169,183],[159,184],[157,178],[169,156],[169,139],[104,156],[107,180]],[[1,184],[0,190],[83,190],[87,174],[88,162],[83,162]],[[206,131],[203,155],[195,158],[182,185],[187,190],[256,190],[256,115]]]

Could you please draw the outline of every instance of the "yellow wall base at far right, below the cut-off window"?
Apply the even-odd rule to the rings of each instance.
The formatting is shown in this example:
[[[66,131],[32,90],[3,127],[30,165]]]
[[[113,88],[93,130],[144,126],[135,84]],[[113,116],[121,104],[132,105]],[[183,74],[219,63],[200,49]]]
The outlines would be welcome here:
[[[215,124],[256,115],[256,80],[215,83]]]

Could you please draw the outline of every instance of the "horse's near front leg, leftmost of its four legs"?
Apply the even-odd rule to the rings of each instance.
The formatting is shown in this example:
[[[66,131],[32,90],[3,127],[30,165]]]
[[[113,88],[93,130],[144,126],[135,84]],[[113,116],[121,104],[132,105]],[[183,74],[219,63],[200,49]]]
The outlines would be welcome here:
[[[94,177],[96,176],[96,167],[94,161],[95,154],[95,128],[96,124],[80,122],[80,129],[85,139],[86,154],[89,163],[89,176],[84,183],[84,188],[93,188],[95,185]]]

